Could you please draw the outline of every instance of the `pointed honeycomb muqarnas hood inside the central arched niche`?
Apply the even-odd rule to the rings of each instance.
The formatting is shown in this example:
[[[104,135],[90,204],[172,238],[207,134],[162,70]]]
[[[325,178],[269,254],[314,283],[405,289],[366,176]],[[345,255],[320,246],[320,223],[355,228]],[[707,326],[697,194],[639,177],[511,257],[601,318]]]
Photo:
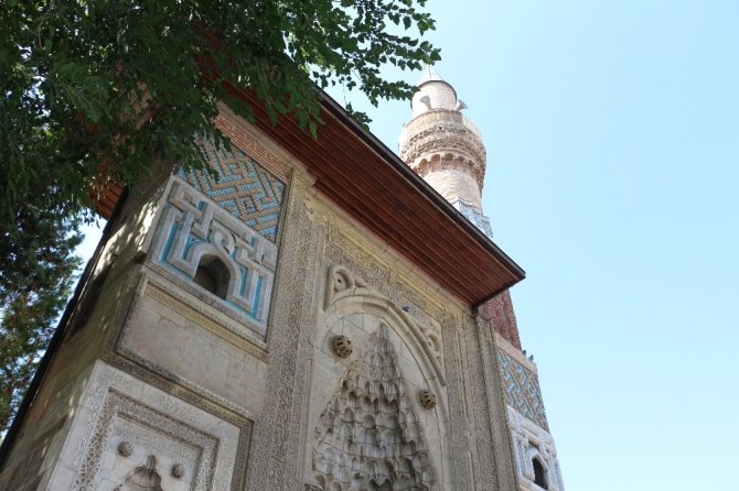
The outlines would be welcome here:
[[[340,383],[315,428],[318,484],[332,491],[436,489],[421,423],[387,326],[379,326]]]

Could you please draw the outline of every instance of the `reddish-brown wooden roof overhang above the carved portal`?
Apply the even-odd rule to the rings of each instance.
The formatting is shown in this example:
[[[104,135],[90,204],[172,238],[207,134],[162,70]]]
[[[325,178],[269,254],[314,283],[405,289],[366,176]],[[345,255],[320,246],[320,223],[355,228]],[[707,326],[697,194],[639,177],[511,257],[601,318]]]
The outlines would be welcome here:
[[[525,272],[410,170],[366,132],[328,95],[321,94],[319,137],[292,117],[272,126],[249,90],[232,89],[250,102],[256,126],[302,162],[318,190],[399,251],[471,307],[525,277]],[[98,201],[108,217],[121,189]]]

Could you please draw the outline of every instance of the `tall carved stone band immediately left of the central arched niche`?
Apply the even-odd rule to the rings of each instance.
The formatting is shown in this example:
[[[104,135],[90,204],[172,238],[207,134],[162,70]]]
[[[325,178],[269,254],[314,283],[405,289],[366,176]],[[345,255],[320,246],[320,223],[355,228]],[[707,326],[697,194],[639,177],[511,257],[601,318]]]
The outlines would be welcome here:
[[[318,314],[318,272],[323,226],[310,218],[306,200],[310,184],[293,172],[276,273],[275,305],[267,343],[270,364],[264,408],[255,426],[246,489],[302,488],[304,401],[309,393],[312,342]]]

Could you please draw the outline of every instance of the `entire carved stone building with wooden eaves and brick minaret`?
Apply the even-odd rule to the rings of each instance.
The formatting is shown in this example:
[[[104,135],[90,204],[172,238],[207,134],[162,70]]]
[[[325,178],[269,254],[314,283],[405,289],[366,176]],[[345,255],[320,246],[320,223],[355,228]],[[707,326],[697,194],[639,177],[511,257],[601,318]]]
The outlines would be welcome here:
[[[564,490],[452,86],[425,72],[405,162],[328,97],[313,140],[242,95],[215,174],[98,204],[0,489]]]

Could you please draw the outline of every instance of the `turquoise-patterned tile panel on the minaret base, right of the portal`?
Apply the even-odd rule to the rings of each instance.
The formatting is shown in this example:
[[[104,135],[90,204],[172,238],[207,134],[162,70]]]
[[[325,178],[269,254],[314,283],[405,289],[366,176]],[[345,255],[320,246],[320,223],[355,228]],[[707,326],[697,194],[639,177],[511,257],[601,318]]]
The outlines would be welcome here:
[[[505,402],[542,428],[549,430],[536,374],[500,349],[497,363],[501,368]]]

